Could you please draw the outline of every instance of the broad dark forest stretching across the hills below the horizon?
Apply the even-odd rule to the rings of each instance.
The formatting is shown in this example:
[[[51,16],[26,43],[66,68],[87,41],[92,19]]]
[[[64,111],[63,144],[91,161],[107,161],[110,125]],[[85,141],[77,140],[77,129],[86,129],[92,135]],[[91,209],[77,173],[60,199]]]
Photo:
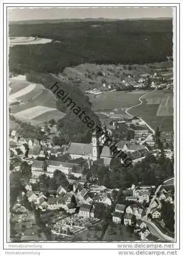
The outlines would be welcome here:
[[[10,47],[10,71],[18,74],[30,70],[57,74],[65,67],[85,62],[144,64],[172,56],[172,19],[11,24],[9,36],[54,40],[48,44]]]

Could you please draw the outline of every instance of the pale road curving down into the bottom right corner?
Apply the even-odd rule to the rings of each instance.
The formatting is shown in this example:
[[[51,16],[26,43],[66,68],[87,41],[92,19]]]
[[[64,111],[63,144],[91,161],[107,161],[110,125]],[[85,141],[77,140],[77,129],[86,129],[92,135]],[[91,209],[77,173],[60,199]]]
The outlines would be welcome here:
[[[149,231],[153,234],[153,236],[158,237],[164,242],[175,242],[173,238],[168,237],[166,234],[162,233],[156,225],[150,221],[147,220],[147,216],[144,216],[142,218],[142,221],[146,223],[147,227],[149,228]]]

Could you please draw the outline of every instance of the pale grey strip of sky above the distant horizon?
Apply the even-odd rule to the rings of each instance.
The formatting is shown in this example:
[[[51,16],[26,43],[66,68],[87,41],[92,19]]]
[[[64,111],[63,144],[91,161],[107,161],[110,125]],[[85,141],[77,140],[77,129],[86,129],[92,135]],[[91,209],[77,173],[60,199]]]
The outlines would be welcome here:
[[[148,8],[11,8],[8,10],[11,22],[33,19],[62,19],[62,18],[156,18],[172,17],[171,7]]]

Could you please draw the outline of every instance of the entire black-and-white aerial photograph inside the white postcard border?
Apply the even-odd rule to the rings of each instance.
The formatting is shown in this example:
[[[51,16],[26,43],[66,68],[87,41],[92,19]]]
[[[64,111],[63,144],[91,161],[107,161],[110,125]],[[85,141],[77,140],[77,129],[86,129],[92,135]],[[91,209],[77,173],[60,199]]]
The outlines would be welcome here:
[[[173,9],[8,12],[9,242],[174,242]]]

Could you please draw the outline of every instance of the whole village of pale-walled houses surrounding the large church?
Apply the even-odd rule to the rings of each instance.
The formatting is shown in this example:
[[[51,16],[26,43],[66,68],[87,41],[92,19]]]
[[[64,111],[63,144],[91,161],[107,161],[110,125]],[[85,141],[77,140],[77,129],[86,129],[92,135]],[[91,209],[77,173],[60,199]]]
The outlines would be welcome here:
[[[111,125],[103,124],[104,134],[114,139],[114,130],[121,123],[133,131],[132,138],[120,140],[116,145],[118,150],[127,154],[132,164],[142,161],[148,155],[159,157],[160,151],[155,148],[155,135],[138,117],[122,121],[115,118]],[[42,129],[44,131],[44,127]],[[118,193],[118,188],[97,185],[97,178],[90,181],[86,179],[86,170],[95,165],[110,168],[114,160],[106,138],[93,133],[90,144],[70,142],[68,145],[57,146],[51,140],[24,139],[16,130],[12,130],[10,173],[21,172],[21,163],[25,162],[31,170],[30,179],[24,182],[24,191],[18,195],[15,206],[21,207],[22,199],[26,197],[31,207],[42,216],[52,212],[49,220],[45,220],[45,225],[52,234],[61,236],[62,240],[84,232],[88,225],[99,225],[106,218],[103,215],[106,212],[115,225],[132,226],[139,239],[160,239],[161,231],[156,228],[154,232],[150,231],[149,223],[161,221],[163,201],[174,203],[172,187],[165,189],[159,186],[156,189],[154,184],[131,184],[122,191],[124,204],[114,205],[114,194]],[[170,159],[172,156],[171,152]],[[46,183],[46,179],[55,179],[55,189],[41,190],[38,186],[40,179],[42,183],[43,180]],[[57,185],[59,179],[66,179],[69,185]],[[26,241],[31,236],[35,238],[35,232],[25,236],[19,228],[17,236],[21,241]],[[38,240],[42,240],[42,237]]]

